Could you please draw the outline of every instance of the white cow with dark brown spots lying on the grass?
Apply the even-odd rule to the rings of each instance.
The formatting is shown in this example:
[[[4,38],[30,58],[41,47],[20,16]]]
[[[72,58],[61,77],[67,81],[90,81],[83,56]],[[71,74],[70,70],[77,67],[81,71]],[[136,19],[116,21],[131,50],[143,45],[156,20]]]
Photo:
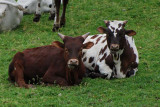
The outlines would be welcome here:
[[[105,21],[107,28],[99,27],[103,34],[88,36],[84,43],[93,42],[90,49],[83,49],[87,76],[110,79],[134,76],[138,71],[138,51],[132,36],[133,30],[126,30],[127,21]]]

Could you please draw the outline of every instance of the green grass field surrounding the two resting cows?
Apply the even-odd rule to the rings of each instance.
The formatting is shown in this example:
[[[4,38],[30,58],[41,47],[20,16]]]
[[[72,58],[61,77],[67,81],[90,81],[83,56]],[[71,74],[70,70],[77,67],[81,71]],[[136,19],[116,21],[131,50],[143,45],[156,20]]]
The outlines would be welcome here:
[[[68,88],[15,87],[7,80],[14,54],[60,40],[57,32],[52,32],[49,14],[44,14],[38,23],[32,22],[34,15],[26,15],[19,27],[0,33],[0,106],[160,106],[159,0],[70,0],[66,16],[66,26],[60,32],[69,36],[97,34],[97,27],[105,26],[103,20],[128,20],[126,29],[137,32],[137,75],[114,80],[84,78],[81,85]]]

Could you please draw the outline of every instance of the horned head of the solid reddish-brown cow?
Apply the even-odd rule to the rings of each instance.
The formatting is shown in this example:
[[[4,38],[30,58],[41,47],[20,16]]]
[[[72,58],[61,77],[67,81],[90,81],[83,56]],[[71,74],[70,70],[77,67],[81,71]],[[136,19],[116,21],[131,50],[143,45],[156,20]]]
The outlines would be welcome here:
[[[88,37],[89,34],[90,33],[86,33],[82,36],[70,37],[58,33],[64,44],[58,41],[52,43],[54,46],[64,49],[64,57],[70,69],[74,69],[80,64],[82,49],[89,49],[93,46],[92,42],[83,44],[84,40]]]

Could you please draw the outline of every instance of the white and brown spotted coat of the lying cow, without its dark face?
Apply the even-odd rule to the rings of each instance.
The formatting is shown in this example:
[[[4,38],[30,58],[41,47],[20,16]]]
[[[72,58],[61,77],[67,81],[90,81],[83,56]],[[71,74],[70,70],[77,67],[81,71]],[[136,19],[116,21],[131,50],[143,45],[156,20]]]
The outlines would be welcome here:
[[[109,27],[116,29],[116,26],[112,26],[112,24]],[[116,34],[114,31],[112,33]],[[83,50],[82,60],[90,71],[106,75],[108,79],[112,76],[116,78],[130,77],[138,71],[138,51],[133,37],[125,35],[124,48],[114,54],[111,53],[108,46],[106,34],[88,36],[84,43],[87,42],[94,43],[90,49]]]

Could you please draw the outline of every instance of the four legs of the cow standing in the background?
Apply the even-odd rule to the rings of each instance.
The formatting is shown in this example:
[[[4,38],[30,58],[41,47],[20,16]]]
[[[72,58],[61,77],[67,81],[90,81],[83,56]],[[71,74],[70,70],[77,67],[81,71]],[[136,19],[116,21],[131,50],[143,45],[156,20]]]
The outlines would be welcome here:
[[[33,19],[34,22],[38,22],[41,17],[41,1],[38,0],[38,4],[36,7],[36,14]],[[60,27],[65,25],[65,13],[67,8],[68,0],[63,0],[63,12],[61,18],[59,17],[61,0],[52,0],[52,9],[50,11],[50,20],[54,20],[53,31],[57,31]]]

